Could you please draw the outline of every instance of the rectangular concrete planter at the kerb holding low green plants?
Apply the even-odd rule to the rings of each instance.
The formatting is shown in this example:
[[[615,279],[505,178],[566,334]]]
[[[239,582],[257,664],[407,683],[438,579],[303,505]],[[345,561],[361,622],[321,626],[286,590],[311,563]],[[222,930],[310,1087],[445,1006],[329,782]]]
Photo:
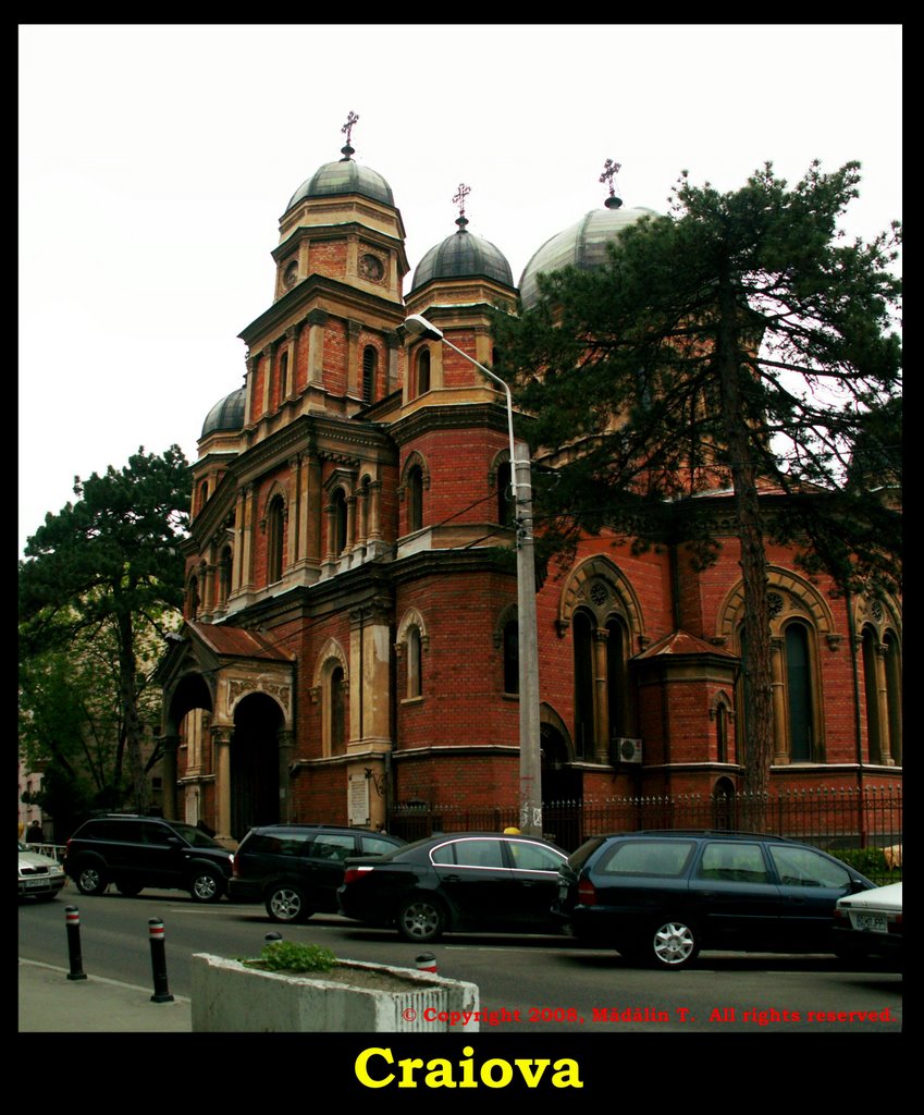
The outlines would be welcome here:
[[[194,1032],[437,1034],[450,1029],[449,1017],[456,1032],[478,1030],[475,983],[410,968],[342,960],[335,975],[286,976],[200,952],[192,975]]]

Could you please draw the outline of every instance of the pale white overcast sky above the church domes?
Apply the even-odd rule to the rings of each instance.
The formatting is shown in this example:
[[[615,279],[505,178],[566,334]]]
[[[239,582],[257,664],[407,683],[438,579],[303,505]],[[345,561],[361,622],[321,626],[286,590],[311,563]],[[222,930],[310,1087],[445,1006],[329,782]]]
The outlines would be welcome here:
[[[340,157],[385,176],[411,274],[455,232],[518,282],[603,203],[667,212],[683,169],[863,164],[847,231],[902,217],[899,25],[216,25],[19,28],[19,539],[75,475],[138,446],[195,459],[240,387],[296,187]]]

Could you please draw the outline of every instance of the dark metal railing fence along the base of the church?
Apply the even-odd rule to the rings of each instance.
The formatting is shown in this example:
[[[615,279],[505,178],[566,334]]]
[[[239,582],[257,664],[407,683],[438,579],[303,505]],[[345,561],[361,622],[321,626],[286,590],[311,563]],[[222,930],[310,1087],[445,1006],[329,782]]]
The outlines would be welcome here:
[[[516,806],[461,808],[409,804],[392,808],[389,831],[405,840],[434,832],[503,832],[517,825]],[[545,835],[566,851],[601,832],[720,828],[788,836],[831,852],[902,843],[902,787],[811,787],[747,794],[585,798],[543,805]]]

